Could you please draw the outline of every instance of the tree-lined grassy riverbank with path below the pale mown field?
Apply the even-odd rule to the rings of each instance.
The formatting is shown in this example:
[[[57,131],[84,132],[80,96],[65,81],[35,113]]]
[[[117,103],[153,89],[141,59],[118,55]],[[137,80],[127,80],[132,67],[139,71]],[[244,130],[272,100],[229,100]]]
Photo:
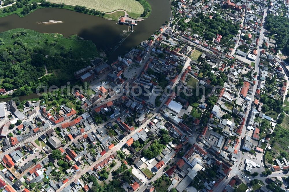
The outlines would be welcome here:
[[[72,5],[72,4],[65,4],[65,3],[50,3],[49,1],[40,3],[39,0],[30,0],[27,5],[33,5],[32,3],[34,3],[34,6],[30,6],[32,8],[29,8],[27,5],[24,5],[23,7],[17,7],[15,4],[11,4],[10,6],[8,5],[3,8],[1,7],[0,18],[11,15],[11,14],[16,14],[19,17],[24,17],[34,12],[35,10],[43,9],[43,8],[66,9],[66,10],[76,11],[76,12],[80,12],[84,14],[100,16],[109,20],[118,20],[120,16],[125,16],[126,14],[128,14],[129,16],[133,18],[139,18],[139,17],[148,18],[151,14],[151,5],[146,0],[139,0],[138,2],[143,6],[143,9],[144,9],[142,14],[129,12],[123,9],[117,9],[112,12],[101,12],[101,11],[97,11],[95,9],[87,8],[85,6],[80,6],[80,5]]]

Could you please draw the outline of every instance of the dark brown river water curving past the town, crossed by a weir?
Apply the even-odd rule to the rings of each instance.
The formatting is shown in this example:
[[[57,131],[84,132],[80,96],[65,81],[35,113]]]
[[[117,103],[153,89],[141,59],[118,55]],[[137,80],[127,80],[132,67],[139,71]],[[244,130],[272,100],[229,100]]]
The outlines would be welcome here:
[[[138,25],[134,26],[134,32],[130,33],[114,52],[112,50],[123,39],[124,32],[128,30],[127,25],[118,25],[117,21],[65,9],[39,9],[22,18],[16,14],[0,18],[0,32],[25,28],[40,33],[60,33],[64,37],[77,34],[86,40],[92,40],[98,50],[105,51],[108,54],[108,64],[110,64],[118,56],[148,39],[171,17],[171,3],[169,0],[147,1],[151,4],[151,16],[138,22]],[[49,20],[62,21],[62,23],[40,24]],[[20,99],[33,99],[36,96],[36,94],[31,94],[22,96]],[[11,98],[0,99],[0,102],[9,99]]]

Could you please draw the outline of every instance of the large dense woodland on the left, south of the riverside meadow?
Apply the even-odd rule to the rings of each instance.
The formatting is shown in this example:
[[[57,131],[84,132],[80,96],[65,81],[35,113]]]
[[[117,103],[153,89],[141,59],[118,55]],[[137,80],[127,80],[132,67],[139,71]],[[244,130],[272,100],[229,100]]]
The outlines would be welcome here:
[[[45,50],[27,46],[18,38],[21,35],[25,36],[25,32],[13,33],[11,38],[15,39],[14,45],[0,49],[0,79],[4,79],[1,87],[6,91],[17,89],[13,93],[14,96],[28,95],[40,86],[66,84],[68,78],[73,78],[74,71],[88,65],[83,61],[70,59],[74,58],[74,53],[70,51],[61,52],[59,56],[56,54],[54,57],[44,57]],[[43,76],[44,65],[47,66],[48,72],[58,71],[67,78],[55,73]]]

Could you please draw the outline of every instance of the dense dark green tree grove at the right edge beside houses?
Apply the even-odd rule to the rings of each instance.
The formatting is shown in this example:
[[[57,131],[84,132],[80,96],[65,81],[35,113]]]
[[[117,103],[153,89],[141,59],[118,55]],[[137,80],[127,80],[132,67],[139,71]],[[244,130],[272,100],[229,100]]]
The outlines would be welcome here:
[[[267,15],[266,29],[274,35],[277,49],[289,54],[289,23],[286,17]]]

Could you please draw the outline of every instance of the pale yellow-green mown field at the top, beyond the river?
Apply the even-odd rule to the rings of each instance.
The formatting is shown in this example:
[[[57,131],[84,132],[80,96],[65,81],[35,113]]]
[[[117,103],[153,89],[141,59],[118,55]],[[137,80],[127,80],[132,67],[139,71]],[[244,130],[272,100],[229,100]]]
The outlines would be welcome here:
[[[130,13],[142,14],[143,6],[135,0],[49,0],[51,3],[64,3],[69,5],[85,6],[101,12],[113,12],[119,9]]]

